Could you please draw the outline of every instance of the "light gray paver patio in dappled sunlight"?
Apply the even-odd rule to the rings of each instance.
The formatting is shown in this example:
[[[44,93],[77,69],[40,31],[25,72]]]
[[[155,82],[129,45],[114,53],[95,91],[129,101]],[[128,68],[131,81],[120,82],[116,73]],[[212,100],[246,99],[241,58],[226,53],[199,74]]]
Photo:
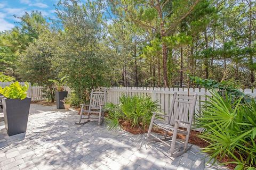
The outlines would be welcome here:
[[[166,157],[145,135],[109,131],[96,122],[75,125],[76,112],[31,104],[26,135],[8,137],[1,122],[0,169],[220,169],[206,165],[197,146]]]

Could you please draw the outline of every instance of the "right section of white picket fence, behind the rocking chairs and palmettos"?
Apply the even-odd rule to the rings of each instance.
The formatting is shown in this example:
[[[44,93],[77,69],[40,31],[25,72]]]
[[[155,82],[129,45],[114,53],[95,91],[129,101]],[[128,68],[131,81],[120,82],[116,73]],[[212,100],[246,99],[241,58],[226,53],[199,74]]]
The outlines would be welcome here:
[[[246,95],[250,95],[255,98],[256,89],[245,89],[242,90]],[[165,113],[166,115],[170,112],[170,105],[173,99],[174,92],[178,95],[194,95],[197,94],[196,103],[196,114],[200,116],[202,110],[202,104],[207,100],[207,95],[210,92],[204,88],[149,88],[149,87],[111,87],[108,88],[107,101],[113,104],[119,103],[119,97],[122,94],[133,95],[145,95],[150,96],[154,101],[157,100],[159,111]]]

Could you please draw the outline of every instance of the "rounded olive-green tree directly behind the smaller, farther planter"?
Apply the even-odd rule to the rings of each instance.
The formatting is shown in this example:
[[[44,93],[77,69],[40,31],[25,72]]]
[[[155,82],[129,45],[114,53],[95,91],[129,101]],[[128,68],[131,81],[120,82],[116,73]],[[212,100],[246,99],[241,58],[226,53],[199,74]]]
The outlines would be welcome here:
[[[55,34],[45,31],[35,39],[20,57],[18,64],[22,81],[34,82],[44,87],[44,96],[54,101],[54,84],[49,79],[57,79],[59,70],[52,69],[53,56],[57,48]],[[29,65],[29,66],[28,66]]]

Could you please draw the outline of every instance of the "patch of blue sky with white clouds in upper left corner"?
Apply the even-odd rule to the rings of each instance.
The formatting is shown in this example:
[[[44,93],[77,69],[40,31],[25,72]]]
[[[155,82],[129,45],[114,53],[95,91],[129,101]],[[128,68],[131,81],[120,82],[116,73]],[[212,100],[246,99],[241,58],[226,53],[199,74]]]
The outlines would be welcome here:
[[[10,30],[15,26],[13,15],[21,16],[25,12],[41,11],[42,15],[54,18],[54,4],[58,0],[0,0],[0,31]]]

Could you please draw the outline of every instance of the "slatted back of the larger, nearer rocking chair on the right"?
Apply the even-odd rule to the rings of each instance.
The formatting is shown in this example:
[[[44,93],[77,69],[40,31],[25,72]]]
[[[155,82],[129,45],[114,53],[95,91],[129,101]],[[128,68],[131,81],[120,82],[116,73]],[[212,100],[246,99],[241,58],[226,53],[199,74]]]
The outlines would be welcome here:
[[[179,120],[186,122],[180,123],[179,127],[190,128],[193,121],[196,99],[197,94],[191,96],[177,96],[177,93],[175,93],[168,123],[174,125],[175,120]]]

